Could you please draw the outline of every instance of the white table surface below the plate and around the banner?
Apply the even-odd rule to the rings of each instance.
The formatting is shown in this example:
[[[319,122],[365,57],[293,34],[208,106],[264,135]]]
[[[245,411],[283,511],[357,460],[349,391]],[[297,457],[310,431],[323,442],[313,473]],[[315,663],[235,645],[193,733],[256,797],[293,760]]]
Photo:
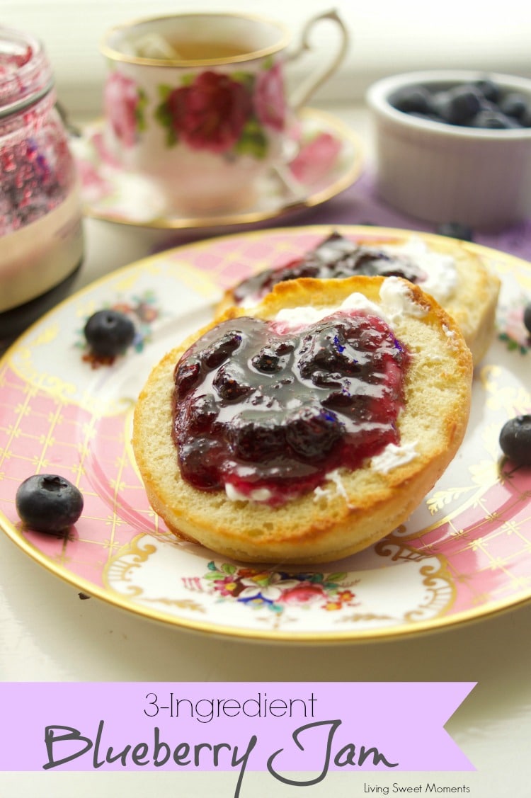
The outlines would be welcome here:
[[[332,109],[369,136],[356,109]],[[370,139],[367,139],[370,144]],[[370,150],[370,147],[369,147]],[[161,247],[168,233],[87,219],[86,259],[74,286]],[[477,768],[439,774],[474,798],[531,796],[531,606],[434,634],[355,645],[290,646],[216,638],[158,625],[98,599],[81,600],[0,535],[2,681],[477,681],[446,729]],[[9,729],[2,726],[2,734]],[[303,796],[362,796],[366,785],[415,786],[427,774],[329,774]],[[0,773],[0,796],[165,796],[234,794],[231,773]],[[301,794],[248,773],[241,798]]]

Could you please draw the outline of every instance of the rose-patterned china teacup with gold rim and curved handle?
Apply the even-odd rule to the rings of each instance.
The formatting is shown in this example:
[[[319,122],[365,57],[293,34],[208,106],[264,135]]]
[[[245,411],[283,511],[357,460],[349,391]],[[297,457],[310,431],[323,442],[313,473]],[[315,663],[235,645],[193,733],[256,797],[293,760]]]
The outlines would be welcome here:
[[[313,26],[339,28],[335,53],[287,92],[284,65],[310,49]],[[198,215],[249,207],[258,181],[283,160],[291,123],[347,49],[343,22],[308,20],[296,53],[278,22],[247,14],[176,14],[114,27],[101,52],[105,146],[121,168],[148,176],[168,208]]]

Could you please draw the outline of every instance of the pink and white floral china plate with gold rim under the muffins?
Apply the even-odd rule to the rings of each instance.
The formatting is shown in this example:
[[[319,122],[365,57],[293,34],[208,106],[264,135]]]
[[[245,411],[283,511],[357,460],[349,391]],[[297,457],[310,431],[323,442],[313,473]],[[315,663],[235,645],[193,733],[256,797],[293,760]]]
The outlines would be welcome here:
[[[410,231],[343,227],[344,235]],[[250,567],[174,539],[146,500],[129,445],[149,370],[212,318],[221,290],[314,247],[329,227],[230,235],[125,267],[69,298],[0,361],[0,526],[26,554],[81,591],[139,615],[210,633],[340,642],[451,626],[531,598],[531,470],[501,456],[505,421],[531,409],[531,266],[466,244],[501,276],[497,337],[474,377],[458,456],[409,521],[381,543],[318,568]],[[419,234],[421,235],[421,234]],[[429,240],[430,235],[422,234]],[[111,364],[89,357],[82,328],[114,306],[137,340]],[[85,496],[67,538],[24,531],[14,497],[36,472]]]

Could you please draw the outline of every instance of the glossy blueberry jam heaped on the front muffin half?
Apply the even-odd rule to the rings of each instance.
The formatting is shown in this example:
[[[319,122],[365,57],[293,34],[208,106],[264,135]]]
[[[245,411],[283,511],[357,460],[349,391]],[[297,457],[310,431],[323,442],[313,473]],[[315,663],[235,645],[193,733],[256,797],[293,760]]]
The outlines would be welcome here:
[[[407,350],[376,315],[338,310],[295,329],[220,322],[175,369],[183,479],[282,504],[398,444]]]

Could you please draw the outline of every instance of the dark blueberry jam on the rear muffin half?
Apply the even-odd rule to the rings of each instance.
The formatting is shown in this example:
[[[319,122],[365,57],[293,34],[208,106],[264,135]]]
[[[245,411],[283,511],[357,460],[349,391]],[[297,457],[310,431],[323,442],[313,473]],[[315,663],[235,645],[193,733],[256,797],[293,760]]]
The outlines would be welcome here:
[[[426,275],[403,253],[390,253],[355,243],[335,232],[303,257],[291,260],[283,267],[273,267],[243,280],[234,289],[236,304],[248,300],[259,301],[277,282],[301,277],[342,279],[354,275],[372,277],[402,277],[410,282],[422,282]]]

